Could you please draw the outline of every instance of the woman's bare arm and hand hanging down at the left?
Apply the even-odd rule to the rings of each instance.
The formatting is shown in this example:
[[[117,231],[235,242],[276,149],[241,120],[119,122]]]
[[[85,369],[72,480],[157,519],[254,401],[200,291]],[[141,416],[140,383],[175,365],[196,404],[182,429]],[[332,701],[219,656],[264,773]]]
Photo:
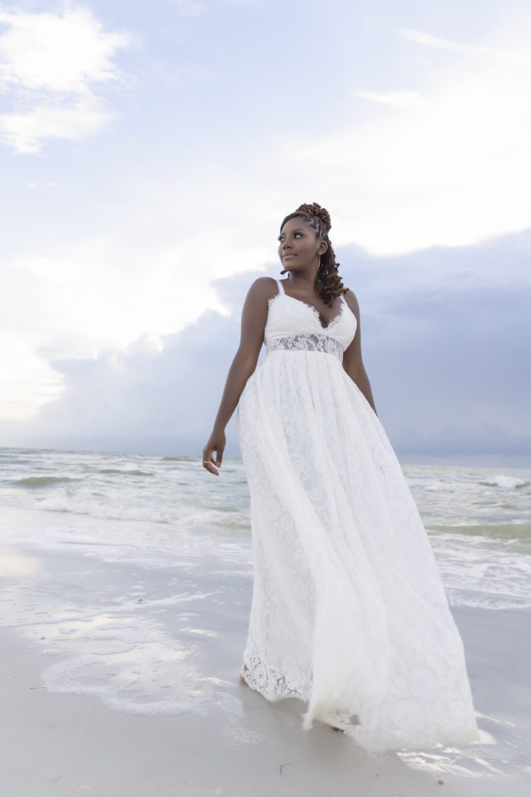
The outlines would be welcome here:
[[[203,467],[215,476],[219,476],[219,471],[214,464],[219,468],[225,450],[225,426],[238,406],[248,378],[256,369],[260,348],[264,343],[267,300],[275,296],[277,291],[278,288],[272,277],[259,277],[252,283],[245,297],[241,312],[240,346],[228,369],[225,390],[221,396],[213,431],[203,449]],[[214,451],[217,457],[213,461]]]

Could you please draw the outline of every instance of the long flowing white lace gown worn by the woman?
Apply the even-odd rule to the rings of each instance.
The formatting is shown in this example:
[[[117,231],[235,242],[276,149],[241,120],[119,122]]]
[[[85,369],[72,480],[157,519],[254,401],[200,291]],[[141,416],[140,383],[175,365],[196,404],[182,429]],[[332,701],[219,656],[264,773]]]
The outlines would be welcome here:
[[[268,701],[371,750],[478,740],[463,642],[381,422],[342,367],[356,317],[323,328],[269,300],[267,354],[236,428],[251,495],[254,586],[241,669]]]

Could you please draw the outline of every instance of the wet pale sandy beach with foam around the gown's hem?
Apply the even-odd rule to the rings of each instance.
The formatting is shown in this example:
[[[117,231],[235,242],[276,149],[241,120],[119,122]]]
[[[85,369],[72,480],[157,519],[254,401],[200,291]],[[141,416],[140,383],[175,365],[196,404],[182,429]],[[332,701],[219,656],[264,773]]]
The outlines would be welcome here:
[[[2,797],[529,794],[528,610],[454,611],[482,744],[368,755],[238,682],[252,582],[236,566],[10,546],[1,572]]]

